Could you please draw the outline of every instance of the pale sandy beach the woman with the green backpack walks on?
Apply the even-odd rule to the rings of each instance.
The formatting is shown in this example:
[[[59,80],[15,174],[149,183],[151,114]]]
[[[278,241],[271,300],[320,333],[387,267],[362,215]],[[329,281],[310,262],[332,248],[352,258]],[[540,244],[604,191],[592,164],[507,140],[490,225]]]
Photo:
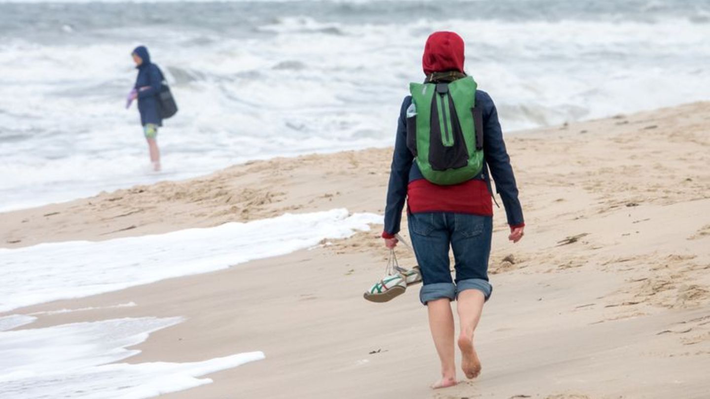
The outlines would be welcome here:
[[[384,267],[381,226],[311,251],[116,293],[26,307],[25,328],[184,316],[129,359],[197,361],[261,350],[168,398],[710,398],[710,103],[510,135],[526,236],[496,209],[494,293],[474,381],[438,374],[417,288],[361,295]],[[103,240],[346,207],[382,212],[391,149],[234,166],[0,214],[0,246]],[[413,266],[405,248],[398,251]],[[460,378],[464,378],[460,375]]]

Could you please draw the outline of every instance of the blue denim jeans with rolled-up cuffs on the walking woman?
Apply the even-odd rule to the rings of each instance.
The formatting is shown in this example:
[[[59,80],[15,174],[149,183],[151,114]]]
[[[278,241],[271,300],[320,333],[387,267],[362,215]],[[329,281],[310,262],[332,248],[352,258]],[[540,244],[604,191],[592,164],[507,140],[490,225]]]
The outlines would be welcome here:
[[[412,246],[422,270],[419,293],[423,305],[430,300],[456,300],[464,290],[479,290],[486,300],[493,217],[454,212],[422,212],[408,215]],[[454,251],[456,279],[449,268],[449,247]]]

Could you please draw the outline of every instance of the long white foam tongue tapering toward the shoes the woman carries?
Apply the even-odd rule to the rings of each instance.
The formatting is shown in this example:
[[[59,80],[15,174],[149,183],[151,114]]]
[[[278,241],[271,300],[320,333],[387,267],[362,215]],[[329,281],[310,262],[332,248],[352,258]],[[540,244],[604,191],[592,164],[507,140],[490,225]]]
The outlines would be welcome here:
[[[0,312],[284,255],[381,222],[375,214],[333,209],[152,236],[0,248]]]

